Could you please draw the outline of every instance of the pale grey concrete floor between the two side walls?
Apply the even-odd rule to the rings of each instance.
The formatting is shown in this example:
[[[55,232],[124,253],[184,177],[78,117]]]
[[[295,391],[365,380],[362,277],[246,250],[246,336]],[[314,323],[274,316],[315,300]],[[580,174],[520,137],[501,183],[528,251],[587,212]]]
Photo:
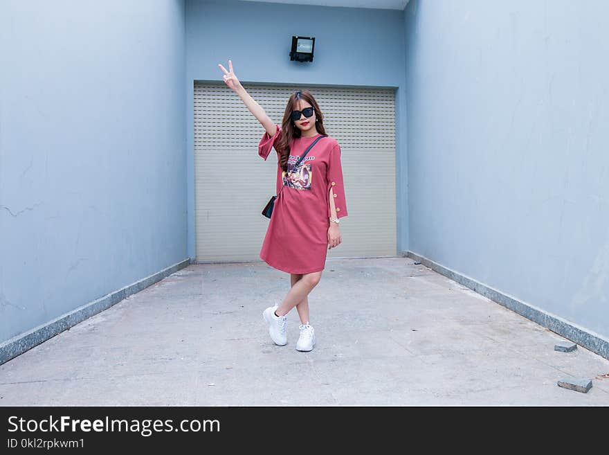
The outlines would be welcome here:
[[[328,259],[317,346],[275,346],[289,275],[190,265],[0,366],[0,405],[609,405],[609,361],[410,258]],[[588,377],[588,393],[561,389]]]

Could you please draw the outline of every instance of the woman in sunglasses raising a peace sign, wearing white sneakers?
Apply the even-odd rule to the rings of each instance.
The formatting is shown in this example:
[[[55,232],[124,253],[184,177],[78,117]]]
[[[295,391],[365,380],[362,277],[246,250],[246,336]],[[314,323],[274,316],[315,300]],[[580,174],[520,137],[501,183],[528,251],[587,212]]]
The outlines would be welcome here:
[[[308,295],[319,283],[327,250],[342,242],[338,219],[347,216],[340,146],[325,134],[323,115],[309,91],[291,94],[280,127],[244,89],[233,71],[233,62],[228,60],[228,71],[221,64],[218,66],[224,72],[226,85],[266,130],[258,144],[258,154],[266,160],[271,148],[275,148],[278,157],[278,197],[260,258],[289,273],[291,289],[281,305],[266,308],[262,315],[269,324],[271,339],[284,346],[286,315],[296,306],[301,322],[296,349],[310,351],[316,340],[309,320]],[[319,136],[322,139],[294,169],[296,161]]]

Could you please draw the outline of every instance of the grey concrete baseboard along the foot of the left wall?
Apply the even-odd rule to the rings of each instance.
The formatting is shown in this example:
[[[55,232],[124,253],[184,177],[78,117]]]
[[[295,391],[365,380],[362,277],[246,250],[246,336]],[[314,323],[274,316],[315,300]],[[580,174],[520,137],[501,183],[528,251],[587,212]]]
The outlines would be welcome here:
[[[166,269],[156,272],[156,274],[147,276],[142,280],[137,281],[131,285],[127,285],[118,291],[111,292],[95,301],[89,302],[75,310],[59,316],[53,321],[49,321],[43,325],[28,330],[22,334],[12,337],[7,341],[0,344],[0,365],[4,362],[8,362],[10,359],[17,357],[17,355],[23,354],[26,350],[43,343],[44,341],[55,337],[56,334],[67,330],[79,322],[84,321],[91,316],[98,314],[104,310],[107,310],[112,305],[122,301],[136,292],[140,292],[142,289],[154,285],[157,281],[162,280],[166,276],[171,275],[175,271],[183,269],[190,264],[190,258],[178,262]]]

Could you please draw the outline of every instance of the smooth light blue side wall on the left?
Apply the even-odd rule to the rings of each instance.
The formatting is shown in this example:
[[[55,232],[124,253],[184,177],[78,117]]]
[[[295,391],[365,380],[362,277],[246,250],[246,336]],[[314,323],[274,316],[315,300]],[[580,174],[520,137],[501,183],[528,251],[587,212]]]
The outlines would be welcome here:
[[[0,342],[187,258],[183,0],[0,3]]]

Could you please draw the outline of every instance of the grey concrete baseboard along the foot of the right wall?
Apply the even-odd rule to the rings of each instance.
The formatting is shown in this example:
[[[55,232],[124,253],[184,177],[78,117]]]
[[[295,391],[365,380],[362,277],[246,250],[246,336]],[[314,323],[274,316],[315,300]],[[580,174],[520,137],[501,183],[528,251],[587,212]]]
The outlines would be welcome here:
[[[433,260],[424,258],[424,256],[419,256],[417,253],[413,253],[412,251],[403,251],[401,256],[421,262],[421,264],[437,271],[439,274],[442,274],[447,278],[451,278],[451,280],[469,287],[469,289],[473,290],[474,292],[478,292],[478,294],[490,298],[492,301],[509,308],[513,312],[516,312],[521,316],[525,316],[525,318],[530,319],[531,321],[534,321],[545,328],[549,328],[549,330],[552,330],[552,332],[556,332],[562,337],[570,339],[574,343],[579,344],[579,346],[589,349],[593,353],[609,359],[609,340],[601,337],[599,334],[586,330],[585,328],[566,321],[559,316],[549,314],[548,312],[545,312],[540,308],[536,308],[533,305],[519,301],[518,299],[504,294],[497,289],[483,285],[472,278],[468,278],[454,270],[439,265],[436,262],[433,262]]]

